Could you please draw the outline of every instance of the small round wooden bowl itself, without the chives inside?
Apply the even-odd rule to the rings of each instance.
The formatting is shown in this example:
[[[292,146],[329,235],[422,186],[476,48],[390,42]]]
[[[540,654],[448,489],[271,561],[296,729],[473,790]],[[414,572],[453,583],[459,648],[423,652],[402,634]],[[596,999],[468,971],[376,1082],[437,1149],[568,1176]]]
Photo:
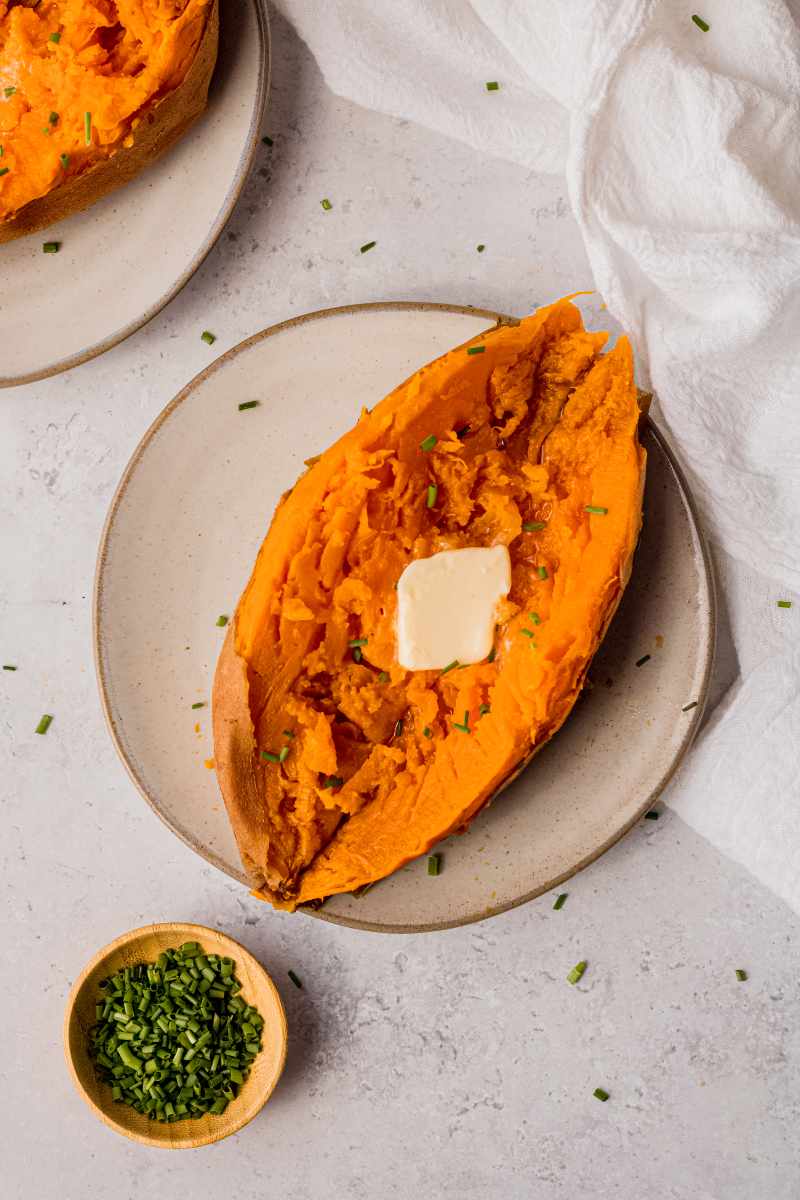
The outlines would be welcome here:
[[[249,1075],[235,1100],[221,1116],[205,1115],[168,1124],[151,1121],[127,1104],[112,1099],[112,1090],[95,1075],[89,1057],[89,1031],[95,1024],[95,1003],[100,994],[100,980],[114,974],[121,967],[136,962],[152,962],[162,950],[182,942],[199,942],[206,954],[224,954],[236,964],[236,976],[242,985],[241,996],[254,1004],[264,1018],[261,1051],[251,1067]],[[191,1150],[219,1141],[259,1112],[269,1100],[281,1078],[287,1057],[287,1019],[278,990],[269,974],[253,955],[216,929],[205,925],[184,925],[168,922],[161,925],[144,925],[130,934],[122,934],[84,967],[76,980],[64,1019],[64,1050],[73,1082],[95,1116],[112,1129],[142,1141],[146,1146],[167,1150]]]

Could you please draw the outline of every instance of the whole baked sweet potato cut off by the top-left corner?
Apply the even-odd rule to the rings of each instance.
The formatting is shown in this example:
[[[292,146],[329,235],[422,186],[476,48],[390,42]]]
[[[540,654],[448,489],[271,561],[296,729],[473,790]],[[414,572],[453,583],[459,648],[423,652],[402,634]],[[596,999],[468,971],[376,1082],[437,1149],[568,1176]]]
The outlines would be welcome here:
[[[206,104],[218,0],[0,0],[0,242],[128,182]]]

